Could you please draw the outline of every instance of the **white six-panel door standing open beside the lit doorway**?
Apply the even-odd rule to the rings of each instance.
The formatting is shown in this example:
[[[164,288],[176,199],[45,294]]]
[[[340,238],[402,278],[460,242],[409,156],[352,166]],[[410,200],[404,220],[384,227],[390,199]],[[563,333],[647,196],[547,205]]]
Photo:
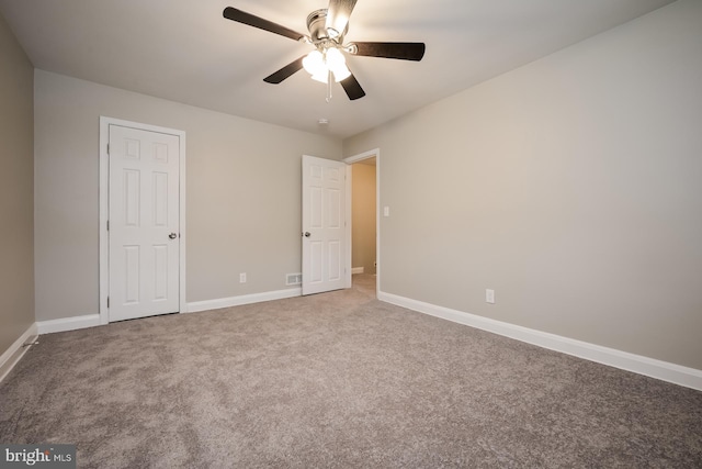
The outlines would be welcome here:
[[[303,156],[303,294],[347,287],[346,166]]]

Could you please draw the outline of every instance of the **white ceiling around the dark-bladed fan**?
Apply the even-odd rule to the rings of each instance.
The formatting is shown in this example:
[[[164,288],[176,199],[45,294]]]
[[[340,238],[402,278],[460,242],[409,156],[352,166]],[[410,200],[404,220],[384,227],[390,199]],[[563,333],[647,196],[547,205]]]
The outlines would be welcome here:
[[[309,45],[225,20],[235,7],[306,34],[325,0],[0,0],[36,68],[228,114],[347,137],[672,0],[359,0],[347,42],[424,42],[422,62],[349,57],[366,97],[301,70]],[[329,124],[320,125],[319,119]]]

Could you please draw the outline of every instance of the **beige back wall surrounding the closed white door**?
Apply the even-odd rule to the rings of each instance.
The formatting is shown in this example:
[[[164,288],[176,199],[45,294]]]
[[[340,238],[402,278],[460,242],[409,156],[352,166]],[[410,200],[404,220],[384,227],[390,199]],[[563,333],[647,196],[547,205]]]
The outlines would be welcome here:
[[[42,70],[35,82],[37,321],[99,311],[100,115],[186,132],[188,302],[290,288],[302,155],[339,159],[339,141]]]

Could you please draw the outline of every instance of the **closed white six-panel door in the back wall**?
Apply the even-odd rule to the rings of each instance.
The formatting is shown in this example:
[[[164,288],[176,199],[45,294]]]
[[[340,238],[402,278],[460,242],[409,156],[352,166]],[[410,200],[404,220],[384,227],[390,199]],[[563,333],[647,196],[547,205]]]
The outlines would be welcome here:
[[[110,321],[179,311],[179,137],[110,125]]]

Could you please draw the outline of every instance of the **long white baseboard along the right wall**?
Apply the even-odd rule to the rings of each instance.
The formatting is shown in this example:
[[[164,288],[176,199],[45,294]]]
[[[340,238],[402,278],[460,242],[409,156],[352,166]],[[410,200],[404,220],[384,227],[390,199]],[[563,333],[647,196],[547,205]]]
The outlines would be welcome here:
[[[490,320],[488,317],[464,313],[449,308],[437,306],[434,304],[398,297],[392,293],[378,292],[377,299],[419,313],[453,321],[458,324],[488,331],[517,340],[525,342],[528,344],[548,348],[551,350],[561,351],[579,358],[585,358],[586,360],[597,361],[602,365],[608,365],[614,368],[645,375],[650,378],[702,391],[702,370],[694,368],[688,368],[641,355],[630,354],[627,351],[616,350],[614,348],[602,347],[587,342]]]

